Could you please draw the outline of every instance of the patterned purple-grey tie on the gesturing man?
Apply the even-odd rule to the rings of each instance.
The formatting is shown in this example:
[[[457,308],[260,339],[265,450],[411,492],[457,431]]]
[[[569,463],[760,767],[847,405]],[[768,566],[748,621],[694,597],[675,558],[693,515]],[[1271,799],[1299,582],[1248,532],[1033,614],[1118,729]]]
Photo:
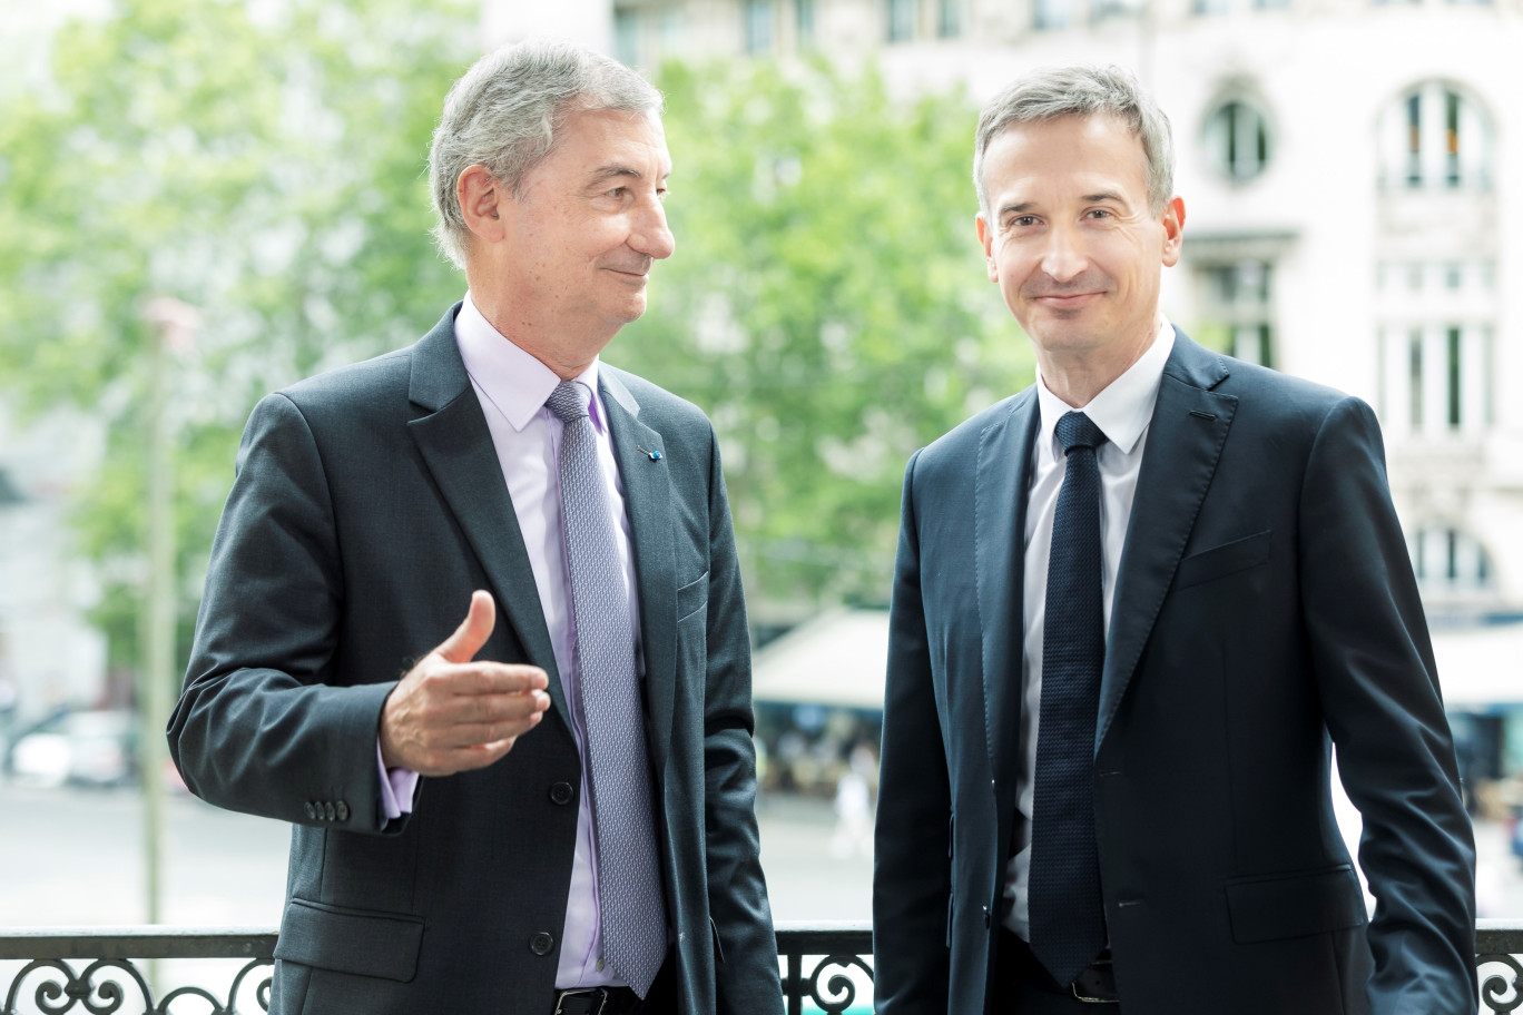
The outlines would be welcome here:
[[[603,959],[644,997],[666,960],[666,904],[634,624],[586,411],[589,394],[585,385],[562,380],[545,408],[565,423],[560,523],[571,568],[577,705],[591,768]]]

